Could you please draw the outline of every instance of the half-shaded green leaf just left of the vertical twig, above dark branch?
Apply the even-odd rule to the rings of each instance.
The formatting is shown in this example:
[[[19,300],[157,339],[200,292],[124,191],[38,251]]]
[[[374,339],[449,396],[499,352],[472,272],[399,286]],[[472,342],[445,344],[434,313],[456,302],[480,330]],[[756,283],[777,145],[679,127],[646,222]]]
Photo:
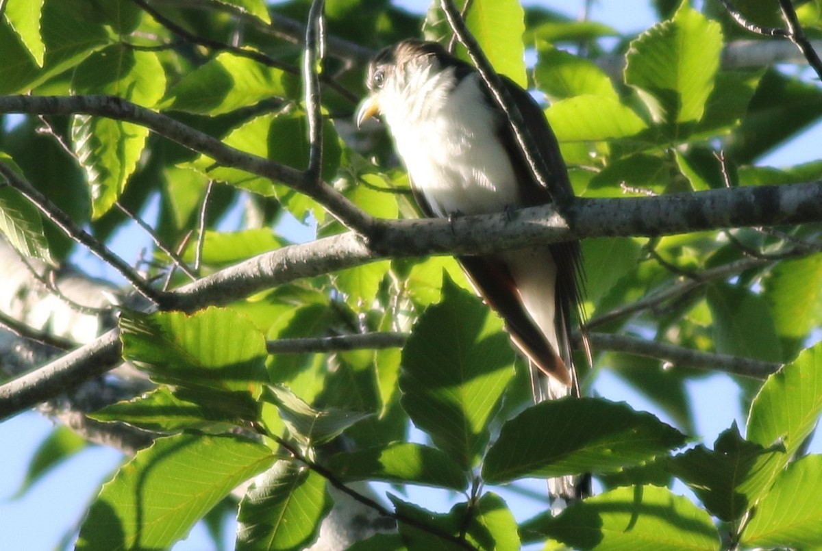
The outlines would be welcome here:
[[[298,93],[294,76],[224,52],[182,76],[160,107],[214,116],[275,96],[293,98]]]

